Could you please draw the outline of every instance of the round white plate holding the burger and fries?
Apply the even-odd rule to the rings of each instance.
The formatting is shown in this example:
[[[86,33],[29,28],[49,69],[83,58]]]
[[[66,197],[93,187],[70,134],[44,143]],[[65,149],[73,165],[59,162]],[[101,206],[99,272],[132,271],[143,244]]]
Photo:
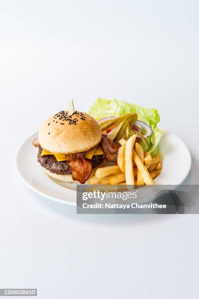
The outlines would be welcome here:
[[[51,180],[37,162],[37,152],[32,145],[38,132],[20,146],[17,153],[17,171],[23,182],[33,191],[54,201],[76,205],[76,183],[58,184]],[[175,134],[163,134],[160,144],[162,171],[155,179],[157,185],[180,185],[191,168],[191,155],[186,145]],[[182,163],[183,161],[183,163]]]

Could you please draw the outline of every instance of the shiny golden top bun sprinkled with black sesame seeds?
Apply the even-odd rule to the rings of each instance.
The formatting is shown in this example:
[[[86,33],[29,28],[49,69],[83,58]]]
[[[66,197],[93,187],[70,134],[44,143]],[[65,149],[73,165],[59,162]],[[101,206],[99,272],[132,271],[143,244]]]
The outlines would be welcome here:
[[[54,153],[77,153],[94,148],[101,141],[101,129],[90,115],[75,111],[60,111],[40,128],[39,142],[42,149]]]

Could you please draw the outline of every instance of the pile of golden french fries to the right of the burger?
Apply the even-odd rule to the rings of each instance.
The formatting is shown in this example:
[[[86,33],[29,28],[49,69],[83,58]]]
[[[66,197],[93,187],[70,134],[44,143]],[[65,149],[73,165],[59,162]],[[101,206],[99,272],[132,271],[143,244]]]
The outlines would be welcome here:
[[[159,153],[152,157],[136,142],[137,134],[127,141],[119,140],[117,165],[100,165],[93,170],[88,184],[96,185],[154,185],[154,179],[161,172]]]

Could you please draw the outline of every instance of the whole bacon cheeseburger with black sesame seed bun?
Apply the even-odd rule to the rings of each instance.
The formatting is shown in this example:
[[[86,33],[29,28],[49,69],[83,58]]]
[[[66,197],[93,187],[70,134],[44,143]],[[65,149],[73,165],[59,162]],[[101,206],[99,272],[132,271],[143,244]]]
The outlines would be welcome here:
[[[60,111],[41,126],[38,162],[52,178],[62,182],[84,184],[103,159],[117,163],[117,146],[101,133],[98,122],[90,115]]]

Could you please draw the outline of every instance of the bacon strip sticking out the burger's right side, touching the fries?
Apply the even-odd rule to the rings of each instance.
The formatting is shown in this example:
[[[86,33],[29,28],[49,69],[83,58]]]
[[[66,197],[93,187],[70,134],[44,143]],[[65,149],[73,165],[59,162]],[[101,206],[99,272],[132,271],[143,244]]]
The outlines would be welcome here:
[[[105,154],[106,161],[117,163],[118,147],[107,136],[102,135],[101,137],[101,149]]]

